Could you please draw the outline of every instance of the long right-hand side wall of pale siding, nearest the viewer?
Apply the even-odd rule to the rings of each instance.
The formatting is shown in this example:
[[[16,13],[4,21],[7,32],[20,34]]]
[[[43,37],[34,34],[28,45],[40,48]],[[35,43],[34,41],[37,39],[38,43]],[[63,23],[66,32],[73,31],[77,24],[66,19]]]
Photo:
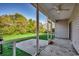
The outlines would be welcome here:
[[[72,22],[72,43],[79,53],[79,4],[76,4],[69,22]]]

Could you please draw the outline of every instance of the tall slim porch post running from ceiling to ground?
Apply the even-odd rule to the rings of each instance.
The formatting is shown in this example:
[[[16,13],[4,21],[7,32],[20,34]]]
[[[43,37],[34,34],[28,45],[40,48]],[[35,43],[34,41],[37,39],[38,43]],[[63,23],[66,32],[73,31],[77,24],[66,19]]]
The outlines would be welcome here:
[[[39,6],[37,3],[37,10],[36,10],[36,46],[37,46],[37,55],[39,53]]]

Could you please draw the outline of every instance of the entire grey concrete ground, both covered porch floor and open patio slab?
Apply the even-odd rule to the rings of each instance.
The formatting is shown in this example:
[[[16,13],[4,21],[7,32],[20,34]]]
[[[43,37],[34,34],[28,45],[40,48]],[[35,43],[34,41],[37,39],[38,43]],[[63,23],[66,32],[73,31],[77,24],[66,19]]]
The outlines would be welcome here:
[[[54,39],[53,45],[47,45],[46,40],[39,40],[40,54],[39,56],[75,56],[78,55],[73,49],[70,40]],[[36,52],[36,40],[30,39],[16,44],[16,47],[34,55]]]

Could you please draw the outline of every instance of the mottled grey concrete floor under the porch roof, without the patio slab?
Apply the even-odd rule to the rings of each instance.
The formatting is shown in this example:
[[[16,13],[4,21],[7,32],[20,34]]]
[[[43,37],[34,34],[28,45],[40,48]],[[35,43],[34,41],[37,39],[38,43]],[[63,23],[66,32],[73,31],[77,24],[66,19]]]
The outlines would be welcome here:
[[[55,44],[48,45],[40,52],[40,56],[74,56],[77,55],[70,40],[54,39]]]

